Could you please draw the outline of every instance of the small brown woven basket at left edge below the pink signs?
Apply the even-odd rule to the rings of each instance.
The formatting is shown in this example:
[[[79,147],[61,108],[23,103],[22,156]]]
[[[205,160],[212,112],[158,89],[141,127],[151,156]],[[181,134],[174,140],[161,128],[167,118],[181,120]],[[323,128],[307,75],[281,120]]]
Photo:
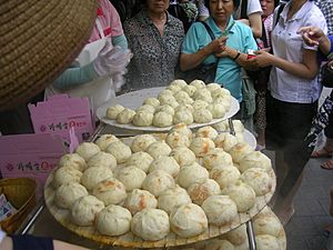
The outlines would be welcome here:
[[[36,206],[34,180],[29,178],[10,178],[0,180],[0,194],[18,210],[14,214],[0,221],[2,230],[13,233]]]

